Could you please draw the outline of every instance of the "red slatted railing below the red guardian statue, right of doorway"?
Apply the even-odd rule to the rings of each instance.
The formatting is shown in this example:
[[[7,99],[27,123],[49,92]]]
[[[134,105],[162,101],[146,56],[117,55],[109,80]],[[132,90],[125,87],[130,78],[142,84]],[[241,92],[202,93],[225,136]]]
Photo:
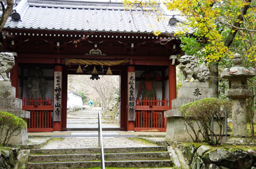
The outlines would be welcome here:
[[[135,131],[166,131],[164,111],[168,109],[168,99],[137,98]]]

